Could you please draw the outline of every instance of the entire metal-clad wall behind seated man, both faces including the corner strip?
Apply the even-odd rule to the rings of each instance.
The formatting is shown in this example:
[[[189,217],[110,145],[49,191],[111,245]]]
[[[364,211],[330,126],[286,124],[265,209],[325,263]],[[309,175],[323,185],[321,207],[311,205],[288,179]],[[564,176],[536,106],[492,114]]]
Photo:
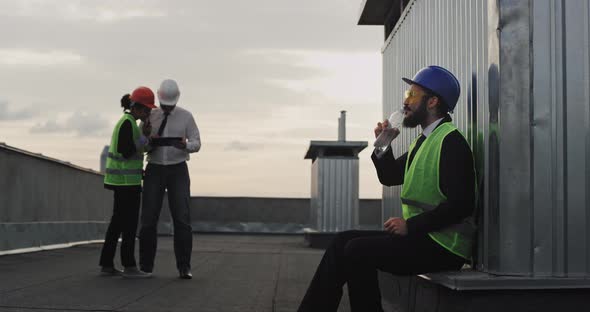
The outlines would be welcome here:
[[[414,0],[383,48],[383,117],[423,66],[461,82],[453,119],[485,177],[484,271],[590,273],[589,20],[587,0]],[[399,191],[384,188],[384,218],[401,215]]]

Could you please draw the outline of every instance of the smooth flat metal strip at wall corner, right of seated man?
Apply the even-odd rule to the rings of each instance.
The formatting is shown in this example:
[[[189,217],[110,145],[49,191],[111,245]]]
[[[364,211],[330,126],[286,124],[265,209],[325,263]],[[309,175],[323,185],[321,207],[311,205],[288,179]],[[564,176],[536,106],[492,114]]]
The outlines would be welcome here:
[[[498,12],[490,44],[498,50],[498,59],[490,59],[497,68],[497,129],[499,137],[498,224],[490,231],[498,232],[498,259],[488,265],[490,272],[527,275],[531,272],[533,228],[531,224],[531,123],[532,98],[529,15],[530,2],[490,2],[490,11]],[[508,17],[511,18],[508,18]],[[496,104],[496,103],[495,103]]]

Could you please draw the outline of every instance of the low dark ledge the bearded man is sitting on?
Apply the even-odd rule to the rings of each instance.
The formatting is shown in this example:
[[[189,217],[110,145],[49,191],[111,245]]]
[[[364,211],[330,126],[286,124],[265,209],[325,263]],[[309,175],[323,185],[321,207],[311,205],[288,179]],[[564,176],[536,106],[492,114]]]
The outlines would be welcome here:
[[[462,275],[464,276],[461,277]],[[469,280],[477,281],[478,288],[457,290],[441,284],[448,283],[449,280],[455,281],[456,285],[465,284]],[[480,274],[470,272],[445,272],[422,276],[394,276],[379,272],[382,304],[387,312],[590,311],[590,289],[585,286],[573,288],[577,282],[570,281],[569,287],[572,288],[498,289],[491,286],[502,286],[494,282],[495,280],[497,279],[483,278]],[[530,287],[538,280],[530,279],[525,285]],[[506,279],[501,281],[506,282]],[[522,287],[522,282],[521,278],[510,281],[513,287]],[[486,283],[491,284],[485,286]],[[472,287],[475,286],[472,284]]]

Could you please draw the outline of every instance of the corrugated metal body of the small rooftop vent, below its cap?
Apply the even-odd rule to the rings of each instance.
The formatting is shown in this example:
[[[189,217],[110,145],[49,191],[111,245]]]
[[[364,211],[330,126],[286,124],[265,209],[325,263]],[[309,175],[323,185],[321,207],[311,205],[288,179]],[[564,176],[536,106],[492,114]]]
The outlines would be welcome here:
[[[358,181],[358,158],[319,157],[314,161],[311,207],[318,231],[358,228]]]

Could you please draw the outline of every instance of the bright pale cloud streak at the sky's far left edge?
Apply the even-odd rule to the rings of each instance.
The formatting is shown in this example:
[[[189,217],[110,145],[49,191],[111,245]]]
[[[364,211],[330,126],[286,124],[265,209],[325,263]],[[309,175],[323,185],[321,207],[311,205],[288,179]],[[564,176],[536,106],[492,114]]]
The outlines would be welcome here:
[[[30,49],[0,49],[0,65],[55,66],[82,63],[84,58],[69,51],[34,51]]]

